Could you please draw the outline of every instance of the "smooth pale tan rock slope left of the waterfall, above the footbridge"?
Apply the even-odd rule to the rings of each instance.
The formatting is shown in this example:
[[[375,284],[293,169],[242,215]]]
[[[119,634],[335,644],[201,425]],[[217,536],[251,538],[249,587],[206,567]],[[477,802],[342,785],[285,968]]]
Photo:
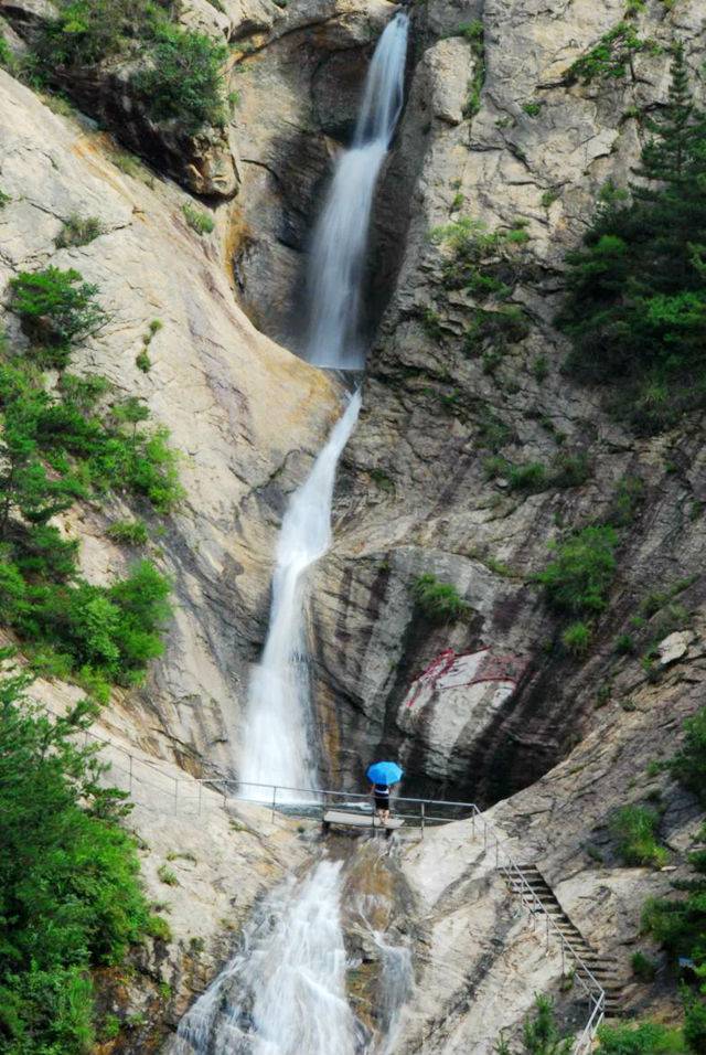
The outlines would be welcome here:
[[[160,540],[161,557],[154,551],[174,578],[174,622],[163,660],[125,706],[136,712],[142,746],[195,770],[207,761],[233,772],[286,494],[338,413],[334,388],[253,329],[235,306],[215,236],[188,228],[184,195],[149,173],[152,185],[139,170],[120,171],[104,137],[50,113],[1,72],[0,110],[0,181],[11,199],[0,214],[2,288],[50,262],[96,283],[114,318],[76,354],[76,369],[145,399],[183,452],[186,499]],[[54,238],[73,213],[97,216],[105,233],[57,251]],[[163,328],[143,374],[135,358],[154,318]],[[17,320],[4,322],[21,341]],[[127,554],[105,528],[127,512],[89,507],[68,525],[81,535],[89,579],[125,568]]]

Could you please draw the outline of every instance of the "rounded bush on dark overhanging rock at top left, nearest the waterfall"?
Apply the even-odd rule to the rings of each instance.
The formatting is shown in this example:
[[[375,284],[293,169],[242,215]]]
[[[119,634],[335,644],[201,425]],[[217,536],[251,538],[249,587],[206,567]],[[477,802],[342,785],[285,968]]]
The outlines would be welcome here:
[[[222,126],[227,53],[225,44],[205,33],[158,24],[151,66],[136,73],[131,84],[156,121],[174,119],[191,134],[205,125]]]

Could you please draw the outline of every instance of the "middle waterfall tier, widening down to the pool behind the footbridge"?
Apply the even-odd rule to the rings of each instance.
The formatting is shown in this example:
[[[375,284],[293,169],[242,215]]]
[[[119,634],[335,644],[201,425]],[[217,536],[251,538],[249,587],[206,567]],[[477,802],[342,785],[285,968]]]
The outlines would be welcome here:
[[[341,452],[357,419],[360,392],[334,426],[285,513],[272,578],[269,630],[250,679],[240,787],[248,798],[271,800],[280,788],[315,787],[315,749],[307,648],[307,573],[331,544],[331,503]],[[250,785],[250,787],[248,787]],[[301,800],[278,792],[278,801]]]

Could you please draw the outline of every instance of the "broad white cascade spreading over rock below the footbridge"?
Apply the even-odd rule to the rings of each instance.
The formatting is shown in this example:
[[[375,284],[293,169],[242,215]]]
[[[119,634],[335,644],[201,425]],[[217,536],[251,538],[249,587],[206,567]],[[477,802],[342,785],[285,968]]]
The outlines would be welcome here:
[[[299,886],[277,887],[182,1019],[172,1055],[354,1055],[341,886],[341,862],[322,861]]]

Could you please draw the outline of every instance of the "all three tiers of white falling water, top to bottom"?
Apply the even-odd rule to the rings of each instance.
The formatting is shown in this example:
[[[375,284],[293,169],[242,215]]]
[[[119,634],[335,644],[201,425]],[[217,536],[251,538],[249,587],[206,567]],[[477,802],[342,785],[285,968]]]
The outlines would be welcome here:
[[[403,106],[408,18],[383,32],[366,78],[353,146],[335,171],[313,238],[307,358],[360,370],[361,289],[375,184]],[[317,784],[317,737],[307,647],[308,576],[331,545],[335,471],[361,408],[347,407],[291,495],[279,534],[269,627],[253,671],[239,782],[245,797],[271,800],[271,786]],[[269,786],[269,787],[265,787]],[[301,801],[296,790],[278,800]],[[355,848],[353,846],[353,853]],[[264,899],[238,950],[182,1019],[172,1055],[387,1055],[411,987],[409,950],[373,935],[385,966],[382,1031],[366,1029],[346,997],[342,926],[344,862],[325,856],[303,878],[290,875]],[[378,1035],[382,1032],[384,1035]]]

